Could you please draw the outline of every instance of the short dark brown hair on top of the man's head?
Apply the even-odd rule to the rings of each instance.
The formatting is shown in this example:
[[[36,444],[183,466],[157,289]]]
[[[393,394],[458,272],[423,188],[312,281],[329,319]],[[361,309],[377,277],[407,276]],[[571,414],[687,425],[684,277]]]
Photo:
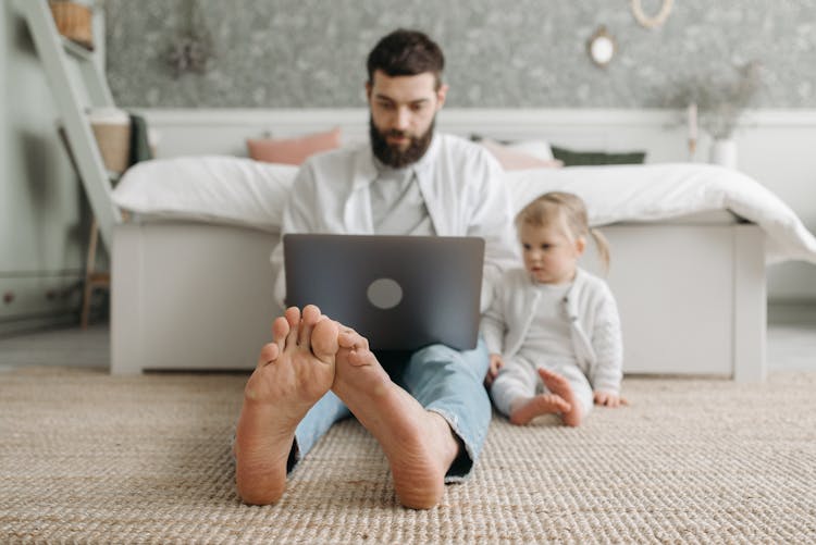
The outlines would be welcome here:
[[[399,28],[382,38],[369,53],[367,62],[369,83],[374,83],[374,72],[386,75],[416,76],[431,72],[436,78],[436,88],[442,85],[445,55],[442,49],[424,33]]]

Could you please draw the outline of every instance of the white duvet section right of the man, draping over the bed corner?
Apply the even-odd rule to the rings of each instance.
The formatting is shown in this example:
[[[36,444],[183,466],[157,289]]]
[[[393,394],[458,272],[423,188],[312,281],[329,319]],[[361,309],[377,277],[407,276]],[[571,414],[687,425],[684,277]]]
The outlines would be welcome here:
[[[730,210],[765,231],[768,262],[816,263],[816,238],[793,210],[734,170],[696,163],[571,166],[508,172],[507,183],[516,209],[547,190],[574,193],[586,202],[590,223],[596,226]]]

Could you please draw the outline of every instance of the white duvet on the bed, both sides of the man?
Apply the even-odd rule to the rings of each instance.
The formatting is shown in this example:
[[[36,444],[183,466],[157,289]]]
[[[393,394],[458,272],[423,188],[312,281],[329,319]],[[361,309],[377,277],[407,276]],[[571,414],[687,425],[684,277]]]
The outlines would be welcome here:
[[[176,218],[277,231],[297,168],[235,157],[189,157],[136,164],[113,201],[148,218]],[[590,222],[656,221],[730,210],[767,234],[768,262],[816,263],[816,238],[796,214],[755,179],[706,164],[534,169],[506,174],[516,210],[548,190],[572,191]]]

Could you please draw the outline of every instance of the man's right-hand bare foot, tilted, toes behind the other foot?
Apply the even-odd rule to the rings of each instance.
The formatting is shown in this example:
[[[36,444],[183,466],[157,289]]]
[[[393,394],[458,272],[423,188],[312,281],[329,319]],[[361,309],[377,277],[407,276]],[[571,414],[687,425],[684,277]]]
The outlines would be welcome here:
[[[436,506],[445,492],[445,473],[459,454],[447,421],[394,384],[363,337],[345,331],[339,346],[332,391],[380,442],[400,504],[413,509]]]

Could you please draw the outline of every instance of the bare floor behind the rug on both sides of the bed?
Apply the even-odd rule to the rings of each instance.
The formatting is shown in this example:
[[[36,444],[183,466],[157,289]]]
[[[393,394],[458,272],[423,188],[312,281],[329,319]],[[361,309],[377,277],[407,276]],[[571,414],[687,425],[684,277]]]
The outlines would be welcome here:
[[[21,366],[107,368],[110,331],[97,324],[0,338],[0,371]],[[768,370],[816,371],[816,305],[768,307]]]

